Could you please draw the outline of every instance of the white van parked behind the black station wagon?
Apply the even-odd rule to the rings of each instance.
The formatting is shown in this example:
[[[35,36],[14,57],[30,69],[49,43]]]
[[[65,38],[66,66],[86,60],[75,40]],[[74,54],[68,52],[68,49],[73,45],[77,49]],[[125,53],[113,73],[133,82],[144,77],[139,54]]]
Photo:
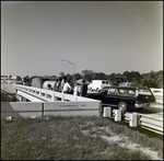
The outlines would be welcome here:
[[[95,90],[99,92],[104,87],[110,87],[108,80],[92,80],[92,82],[89,84],[89,90]]]

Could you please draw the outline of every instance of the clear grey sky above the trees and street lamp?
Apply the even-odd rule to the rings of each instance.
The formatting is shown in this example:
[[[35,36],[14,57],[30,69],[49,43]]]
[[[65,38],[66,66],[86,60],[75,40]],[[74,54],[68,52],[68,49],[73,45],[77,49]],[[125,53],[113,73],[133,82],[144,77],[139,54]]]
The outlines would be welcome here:
[[[73,67],[163,70],[163,1],[1,1],[1,76],[72,74]]]

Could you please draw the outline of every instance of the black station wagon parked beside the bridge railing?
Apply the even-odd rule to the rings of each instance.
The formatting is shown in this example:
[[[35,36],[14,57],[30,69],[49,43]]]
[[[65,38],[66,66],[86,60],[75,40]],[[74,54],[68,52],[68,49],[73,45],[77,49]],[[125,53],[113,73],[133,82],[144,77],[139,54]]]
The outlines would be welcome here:
[[[121,111],[138,111],[155,103],[155,96],[149,88],[105,87],[99,93],[87,93],[87,97],[101,100],[103,106]]]

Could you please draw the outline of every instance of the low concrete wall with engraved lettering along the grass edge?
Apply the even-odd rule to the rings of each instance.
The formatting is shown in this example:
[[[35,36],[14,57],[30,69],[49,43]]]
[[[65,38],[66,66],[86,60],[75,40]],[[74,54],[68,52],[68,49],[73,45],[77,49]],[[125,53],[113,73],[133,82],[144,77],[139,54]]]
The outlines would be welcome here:
[[[42,116],[99,116],[102,102],[2,102],[1,118]]]

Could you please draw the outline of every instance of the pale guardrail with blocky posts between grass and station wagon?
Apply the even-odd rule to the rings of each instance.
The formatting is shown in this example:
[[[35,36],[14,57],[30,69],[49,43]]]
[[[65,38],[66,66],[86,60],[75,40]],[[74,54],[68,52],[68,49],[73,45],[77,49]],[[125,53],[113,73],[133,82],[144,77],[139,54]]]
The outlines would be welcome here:
[[[122,116],[120,110],[104,107],[103,117],[115,118],[115,122],[129,122],[130,127],[141,127],[163,135],[163,120],[143,114],[126,113]]]

